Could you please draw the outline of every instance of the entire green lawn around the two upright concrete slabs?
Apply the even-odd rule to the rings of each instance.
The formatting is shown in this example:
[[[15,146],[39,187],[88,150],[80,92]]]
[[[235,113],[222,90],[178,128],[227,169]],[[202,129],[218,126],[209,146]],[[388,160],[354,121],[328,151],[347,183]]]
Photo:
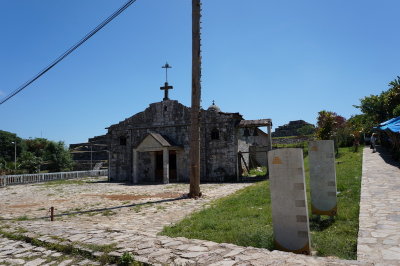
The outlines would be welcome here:
[[[319,256],[356,259],[361,185],[362,149],[341,148],[337,161],[338,216],[334,221],[310,217],[311,245]],[[305,158],[307,197],[308,157]],[[309,210],[311,207],[309,204]],[[180,223],[165,227],[163,235],[227,242],[240,246],[274,249],[269,182],[263,181],[214,201],[210,208]]]

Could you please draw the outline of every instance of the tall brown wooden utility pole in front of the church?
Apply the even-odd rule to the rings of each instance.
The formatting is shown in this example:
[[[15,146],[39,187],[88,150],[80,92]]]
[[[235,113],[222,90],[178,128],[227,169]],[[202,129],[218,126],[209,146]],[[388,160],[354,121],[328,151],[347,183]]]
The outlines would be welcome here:
[[[192,110],[190,125],[190,191],[189,197],[200,192],[200,98],[201,50],[200,17],[201,0],[192,0]]]

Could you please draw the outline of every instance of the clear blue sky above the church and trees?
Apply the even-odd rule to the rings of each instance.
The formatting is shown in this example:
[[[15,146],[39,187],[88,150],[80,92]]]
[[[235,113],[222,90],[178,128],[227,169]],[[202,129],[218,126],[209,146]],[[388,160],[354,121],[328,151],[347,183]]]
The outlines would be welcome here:
[[[0,97],[80,40],[125,0],[1,0]],[[246,119],[349,118],[400,75],[398,0],[203,0],[202,106]],[[10,101],[0,129],[67,144],[170,98],[190,105],[191,1],[138,0]]]

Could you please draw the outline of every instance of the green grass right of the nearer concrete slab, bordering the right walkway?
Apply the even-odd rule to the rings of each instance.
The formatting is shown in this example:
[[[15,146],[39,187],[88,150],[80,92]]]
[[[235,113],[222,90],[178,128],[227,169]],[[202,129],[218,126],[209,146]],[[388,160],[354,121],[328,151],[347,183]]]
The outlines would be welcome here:
[[[320,256],[337,256],[345,259],[357,258],[358,216],[361,192],[362,150],[353,152],[353,148],[340,148],[336,162],[338,195],[338,216],[335,222],[329,220],[317,222],[312,219],[310,229],[312,247]],[[307,197],[309,194],[308,160]],[[311,209],[309,205],[309,210]]]

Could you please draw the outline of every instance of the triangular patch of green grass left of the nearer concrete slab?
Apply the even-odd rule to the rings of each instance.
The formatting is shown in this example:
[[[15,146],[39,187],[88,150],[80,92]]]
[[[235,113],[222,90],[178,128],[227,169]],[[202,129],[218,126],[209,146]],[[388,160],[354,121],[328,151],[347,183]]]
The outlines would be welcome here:
[[[214,201],[162,234],[272,249],[271,200],[267,181]]]

